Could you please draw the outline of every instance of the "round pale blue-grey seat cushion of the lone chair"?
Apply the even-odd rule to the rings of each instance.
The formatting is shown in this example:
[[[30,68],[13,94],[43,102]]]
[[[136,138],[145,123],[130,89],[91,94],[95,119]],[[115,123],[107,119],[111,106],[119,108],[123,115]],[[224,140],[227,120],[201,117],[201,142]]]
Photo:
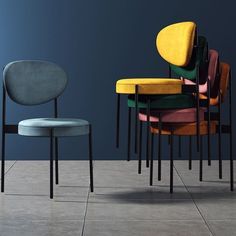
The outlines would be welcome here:
[[[18,124],[18,134],[24,136],[48,137],[78,136],[89,133],[89,122],[70,118],[35,118],[22,120]]]

